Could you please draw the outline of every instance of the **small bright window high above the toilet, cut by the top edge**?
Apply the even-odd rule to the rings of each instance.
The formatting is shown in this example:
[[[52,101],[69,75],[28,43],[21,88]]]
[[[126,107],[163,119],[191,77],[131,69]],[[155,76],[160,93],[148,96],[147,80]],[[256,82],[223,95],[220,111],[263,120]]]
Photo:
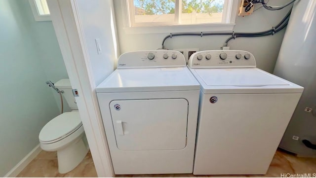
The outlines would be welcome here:
[[[29,0],[36,21],[50,21],[46,0]]]

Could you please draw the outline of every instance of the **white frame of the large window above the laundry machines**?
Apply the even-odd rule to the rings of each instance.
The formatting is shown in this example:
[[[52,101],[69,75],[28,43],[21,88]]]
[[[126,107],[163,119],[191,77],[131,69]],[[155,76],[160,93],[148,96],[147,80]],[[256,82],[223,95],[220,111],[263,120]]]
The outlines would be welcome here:
[[[180,9],[181,1],[176,0],[176,8]],[[153,33],[183,33],[183,32],[228,32],[232,31],[235,26],[237,9],[239,0],[226,0],[223,8],[223,18],[221,23],[208,24],[168,24],[165,22],[159,23],[141,23],[151,26],[135,26],[132,27],[132,17],[130,4],[133,0],[121,0],[121,8],[123,12],[123,29],[126,34],[153,34]],[[178,6],[177,6],[178,4]],[[178,10],[177,12],[180,13]],[[225,13],[226,12],[226,13]],[[175,13],[175,19],[179,22],[180,14]]]

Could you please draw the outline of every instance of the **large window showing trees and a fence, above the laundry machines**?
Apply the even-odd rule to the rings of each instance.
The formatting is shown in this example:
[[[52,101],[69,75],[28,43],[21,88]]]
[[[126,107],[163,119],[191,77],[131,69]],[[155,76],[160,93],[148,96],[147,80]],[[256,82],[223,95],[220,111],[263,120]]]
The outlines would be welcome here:
[[[175,27],[213,26],[216,28],[207,31],[218,31],[221,26],[229,28],[220,31],[229,31],[233,29],[238,8],[238,0],[125,1],[125,27],[138,30],[142,29],[139,27],[173,27],[174,30]]]

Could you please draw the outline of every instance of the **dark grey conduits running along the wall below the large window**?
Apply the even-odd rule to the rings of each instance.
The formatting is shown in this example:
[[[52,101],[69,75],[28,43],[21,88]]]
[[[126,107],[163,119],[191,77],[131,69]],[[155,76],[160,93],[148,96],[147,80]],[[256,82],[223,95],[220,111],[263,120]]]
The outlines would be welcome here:
[[[272,29],[267,30],[267,31],[263,31],[263,32],[257,32],[257,33],[235,33],[235,32],[229,32],[229,33],[178,33],[178,34],[171,34],[168,36],[165,36],[162,40],[162,49],[166,49],[164,48],[164,43],[166,41],[166,39],[168,38],[172,38],[174,36],[214,36],[214,35],[231,35],[231,37],[229,37],[225,43],[223,47],[228,46],[228,42],[231,39],[236,39],[237,37],[259,37],[259,36],[270,36],[270,35],[275,35],[277,32],[281,31],[282,29],[284,29],[287,26],[287,23],[289,21],[290,18],[290,14],[291,14],[292,8],[288,11],[288,13],[285,15],[285,17],[275,26],[272,27]]]

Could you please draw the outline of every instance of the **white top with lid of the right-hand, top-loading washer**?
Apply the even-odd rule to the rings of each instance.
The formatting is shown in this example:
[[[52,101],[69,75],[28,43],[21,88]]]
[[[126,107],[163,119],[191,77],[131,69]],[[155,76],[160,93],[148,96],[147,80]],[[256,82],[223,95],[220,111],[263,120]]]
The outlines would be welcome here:
[[[302,93],[303,87],[258,68],[191,69],[204,94]]]

